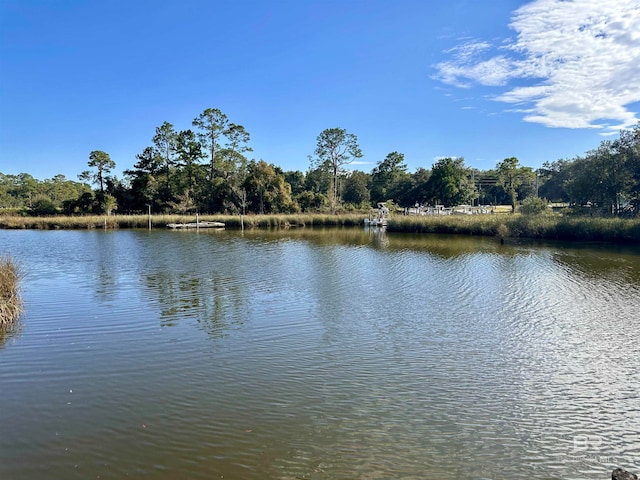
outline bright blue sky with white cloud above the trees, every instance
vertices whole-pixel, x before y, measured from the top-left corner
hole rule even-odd
[[[637,123],[640,0],[0,0],[0,172],[120,176],[205,108],[284,170],[332,127],[367,172],[537,168]]]

